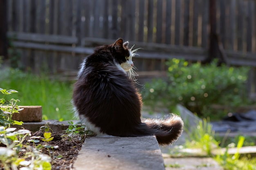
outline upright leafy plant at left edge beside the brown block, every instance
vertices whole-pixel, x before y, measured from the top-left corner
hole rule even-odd
[[[2,92],[3,97],[0,98],[0,126],[4,127],[11,127],[11,125],[22,125],[22,121],[16,121],[12,120],[11,117],[13,113],[19,113],[20,110],[23,110],[23,108],[19,108],[18,102],[20,100],[18,99],[11,99],[10,101],[4,99],[5,95],[11,95],[12,93],[18,93],[16,90],[6,90],[0,88],[0,92]]]

